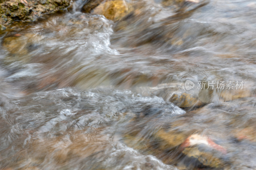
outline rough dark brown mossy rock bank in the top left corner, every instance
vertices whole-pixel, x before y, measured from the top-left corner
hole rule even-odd
[[[21,22],[36,21],[43,14],[51,14],[68,7],[70,0],[7,0],[0,2],[0,30]]]

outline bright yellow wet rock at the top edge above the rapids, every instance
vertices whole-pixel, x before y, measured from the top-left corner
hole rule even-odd
[[[125,16],[133,11],[131,4],[126,3],[124,0],[107,1],[98,5],[93,9],[92,14],[104,15],[106,18],[113,21],[123,19]]]

